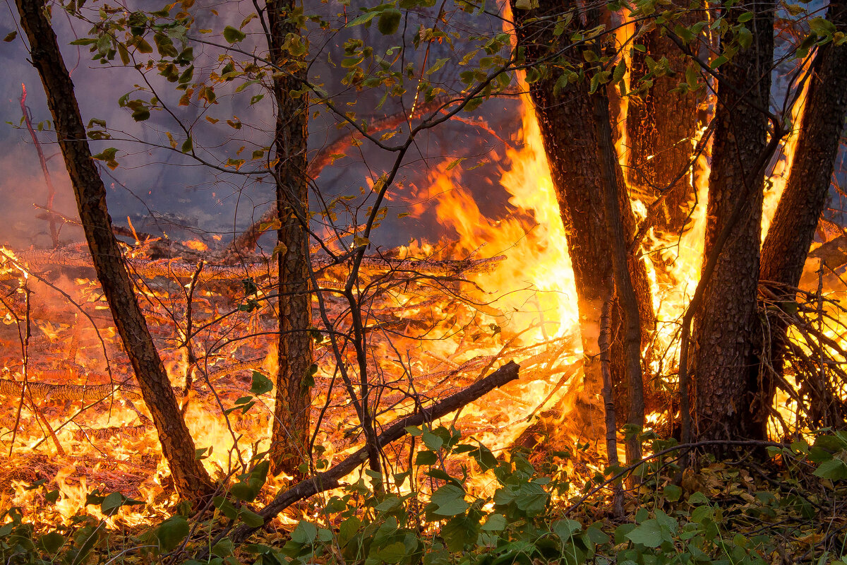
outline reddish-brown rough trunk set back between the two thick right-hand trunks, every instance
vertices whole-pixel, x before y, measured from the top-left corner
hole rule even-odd
[[[688,11],[677,22],[691,25],[700,15],[705,16],[701,12]],[[646,50],[634,50],[629,73],[632,90],[638,88],[639,81],[649,73],[645,61],[648,55],[656,61],[667,57],[671,69],[677,74],[657,77],[652,80],[652,86],[640,95],[628,98],[629,186],[648,202],[669,191],[662,202],[662,213],[656,219],[656,230],[678,234],[688,217],[694,186],[689,174],[684,174],[673,185],[671,183],[689,168],[699,101],[694,93],[673,91],[684,80],[685,67],[690,64],[673,41],[656,29],[648,31],[637,42]]]

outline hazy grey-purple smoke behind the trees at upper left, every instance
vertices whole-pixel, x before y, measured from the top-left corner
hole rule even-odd
[[[148,9],[160,8],[158,3],[144,1],[133,5]],[[14,7],[14,4],[7,3],[5,9],[10,7]],[[197,14],[195,30],[209,28],[217,31],[225,25],[238,26],[253,10],[252,3],[246,2],[218,3],[214,7],[219,16],[206,9],[193,9]],[[325,16],[333,17],[340,10],[340,5],[325,5],[321,9]],[[355,8],[347,9],[357,13]],[[425,16],[412,16],[409,30],[417,29],[420,22],[416,18],[423,21]],[[497,32],[497,26],[500,25],[496,20],[479,17],[465,17],[454,24],[457,28],[463,27],[468,32],[476,33]],[[119,108],[119,97],[133,91],[133,85],[141,83],[141,75],[136,69],[123,68],[119,64],[105,68],[91,61],[88,47],[68,45],[75,38],[86,36],[89,25],[71,19],[58,6],[54,8],[53,26],[63,46],[65,64],[72,71],[83,119],[86,122],[94,118],[105,119],[110,131],[124,132],[122,136],[135,140],[91,141],[91,149],[95,153],[106,147],[119,149],[120,167],[114,171],[101,167],[108,190],[109,210],[116,224],[125,225],[127,217],[130,217],[137,230],[154,235],[167,233],[174,238],[200,235],[207,240],[212,235],[219,235],[222,241],[228,241],[233,233],[243,230],[263,213],[274,195],[273,187],[267,179],[216,171],[180,152],[154,147],[169,145],[166,132],[173,132],[179,144],[184,136],[180,137],[179,127],[165,112],[153,112],[151,119],[136,123],[126,108]],[[400,41],[396,37],[381,37],[374,28],[359,26],[335,36],[321,35],[315,30],[310,32],[313,47],[323,47],[310,69],[310,80],[322,84],[334,96],[338,106],[346,108],[348,102],[356,103],[357,114],[366,119],[378,119],[401,112],[401,104],[389,100],[384,108],[376,109],[381,92],[356,92],[341,85],[340,78],[346,69],[330,66],[327,60],[331,58],[335,62],[340,61],[343,57],[343,43],[351,37],[366,38],[368,42],[376,42],[377,45],[380,42]],[[0,36],[6,36],[13,30],[19,30],[17,14],[7,12],[0,19]],[[240,47],[247,51],[255,48],[259,54],[266,53],[261,44],[263,36],[257,20],[248,24],[245,31],[248,37]],[[22,35],[22,30],[19,30],[18,38],[13,42],[0,43],[0,60],[3,61],[0,119],[14,126],[19,125],[21,119],[21,83],[26,85],[26,104],[34,124],[50,119],[41,81],[35,69],[26,61],[27,52]],[[411,33],[407,35],[411,36]],[[208,38],[222,42],[219,33],[209,34]],[[411,57],[411,45],[409,47]],[[224,51],[217,47],[195,45],[194,53],[197,56],[197,80],[200,73],[205,72],[208,76],[209,69],[219,66],[217,60]],[[234,56],[242,57],[237,54]],[[414,54],[417,58],[422,56],[423,53]],[[434,43],[429,53],[431,60],[452,56],[456,55],[451,53],[446,44]],[[455,87],[458,84],[456,75],[457,65],[448,64],[432,78],[444,80]],[[181,121],[192,125],[194,145],[204,158],[221,163],[226,158],[235,158],[240,147],[246,147],[243,152],[249,156],[253,149],[267,147],[270,143],[274,124],[270,97],[266,95],[262,101],[249,104],[252,96],[263,93],[261,86],[235,94],[235,86],[239,83],[234,81],[232,85],[219,87],[218,103],[210,108],[178,108],[176,100],[180,93],[174,91],[173,85],[154,73],[148,73],[147,77],[156,88],[157,95],[180,111]],[[411,106],[412,95],[413,92],[404,97],[405,108]],[[442,234],[431,214],[424,213],[422,216],[400,220],[396,218],[397,213],[407,212],[409,203],[415,202],[416,198],[433,196],[427,195],[426,187],[432,167],[446,158],[468,158],[468,163],[480,159],[491,161],[490,151],[498,150],[493,154],[494,157],[502,155],[504,141],[501,140],[508,142],[512,139],[519,126],[518,104],[513,100],[490,100],[478,112],[463,115],[485,119],[499,132],[500,139],[490,136],[479,127],[460,122],[442,125],[420,136],[399,177],[406,191],[402,196],[407,197],[407,201],[395,199],[390,203],[392,209],[379,232],[379,241],[396,245],[412,237],[438,239]],[[206,116],[221,122],[237,117],[244,127],[237,131],[225,126],[222,128],[220,123],[213,127],[206,121]],[[338,119],[325,111],[310,119],[310,154],[315,154],[344,133],[336,127],[337,123]],[[49,246],[47,221],[39,218],[44,213],[42,209],[36,208],[47,202],[47,186],[36,157],[36,149],[27,130],[16,129],[13,125],[4,124],[0,128],[0,187],[4,197],[4,206],[0,209],[0,222],[3,224],[0,240],[15,247]],[[57,191],[53,208],[58,213],[75,218],[75,202],[55,137],[48,131],[39,133],[38,137]],[[203,147],[208,149],[202,150]],[[315,180],[315,185],[328,198],[344,194],[357,195],[360,187],[368,186],[368,179],[373,180],[379,176],[392,162],[391,154],[370,147],[366,142],[363,147],[349,151],[347,158],[339,159],[324,169]],[[480,207],[492,215],[503,212],[507,198],[501,189],[492,190],[492,187],[499,188],[496,179],[499,177],[500,164],[490,162],[479,169],[473,169],[463,175],[461,183],[465,189],[474,192]],[[61,237],[63,241],[80,241],[81,230],[73,224],[64,224]]]

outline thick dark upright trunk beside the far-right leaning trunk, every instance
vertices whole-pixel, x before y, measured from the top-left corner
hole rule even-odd
[[[695,436],[699,440],[762,438],[754,413],[758,385],[748,368],[756,363],[756,289],[759,281],[761,202],[764,175],[757,163],[767,147],[767,108],[773,59],[773,3],[729,8],[728,23],[747,9],[752,44],[719,71],[717,126],[706,207],[704,256],[733,215],[741,214],[722,247],[695,317]],[[705,263],[705,262],[704,262]],[[767,416],[764,418],[767,421]]]

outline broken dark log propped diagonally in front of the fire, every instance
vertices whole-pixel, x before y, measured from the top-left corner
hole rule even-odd
[[[506,385],[508,382],[518,378],[519,368],[520,366],[518,363],[510,361],[484,379],[468,386],[468,388],[458,391],[456,394],[451,396],[447,396],[444,400],[435,402],[432,406],[426,407],[418,413],[413,413],[405,418],[396,420],[394,424],[391,424],[387,429],[385,429],[385,431],[377,436],[377,445],[381,449],[390,444],[392,441],[399,440],[401,437],[406,435],[407,427],[419,426],[428,422],[433,422],[434,420],[442,418],[451,412],[455,412],[459,408],[479,399],[479,397],[493,391],[495,388]],[[324,473],[318,473],[313,477],[303,479],[290,489],[281,492],[279,495],[274,497],[274,500],[271,501],[268,506],[258,512],[259,516],[263,518],[264,523],[268,523],[269,520],[276,517],[280,512],[285,510],[285,508],[290,507],[295,502],[302,501],[303,499],[308,498],[309,496],[314,496],[319,492],[337,488],[340,485],[341,479],[346,477],[348,474],[351,474],[353,470],[355,470],[359,465],[365,463],[367,460],[368,450],[365,447],[362,447]],[[235,529],[235,532],[231,535],[231,539],[236,544],[241,543],[253,532],[261,528],[262,526],[252,527],[243,524]],[[223,539],[227,534],[229,534],[229,531],[230,528],[224,529],[224,531],[221,532],[209,546],[214,546],[218,540]]]

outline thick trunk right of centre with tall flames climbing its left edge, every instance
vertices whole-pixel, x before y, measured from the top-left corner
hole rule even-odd
[[[556,16],[565,14],[567,9],[573,8],[575,4],[562,4],[555,0],[540,0],[539,4],[538,8],[527,10],[516,8],[515,2],[512,1],[518,47],[524,48],[527,63],[532,65],[541,59],[549,58],[551,53],[562,50],[573,58],[571,64],[578,65],[583,61],[582,51],[590,47],[581,46],[579,53],[574,53],[573,48],[568,50],[567,47],[573,47],[569,41],[571,34],[566,30],[560,35],[554,35],[554,26],[548,23],[551,18],[555,20]],[[574,20],[579,21],[579,18]],[[603,152],[595,130],[595,105],[592,97],[602,97],[601,103],[608,104],[608,101],[604,88],[597,89],[591,95],[587,81],[578,81],[556,89],[560,76],[562,71],[554,65],[549,65],[547,75],[531,84],[529,93],[539,120],[553,186],[556,188],[562,222],[565,224],[586,358],[586,387],[593,396],[598,395],[602,388],[601,364],[591,363],[591,360],[599,359],[597,338],[600,335],[603,295],[612,280],[613,269],[609,251],[612,241],[602,197]],[[611,128],[606,129],[606,135],[609,136],[608,140],[604,140],[606,145],[611,144]],[[617,165],[615,168],[618,169]],[[623,185],[623,174],[617,170],[611,181],[615,183],[614,190],[617,191],[621,213],[621,218],[615,221],[623,224],[623,233],[627,238],[631,238],[635,219],[626,187]],[[645,265],[639,258],[628,258],[628,271],[638,296],[640,330],[644,332],[640,337],[643,341],[645,333],[649,332],[655,320],[650,302],[650,287]],[[616,339],[612,342],[611,369],[614,385],[620,391],[627,388],[626,356],[623,353],[625,332],[622,329],[624,315],[619,304],[616,304],[614,310],[612,319],[616,327],[612,328],[612,335],[616,335]],[[636,388],[638,385],[640,383]],[[638,412],[639,405],[640,401],[636,398],[634,403],[629,403],[627,410],[630,413],[628,419],[634,424],[639,424],[639,417],[633,416],[633,412]]]

